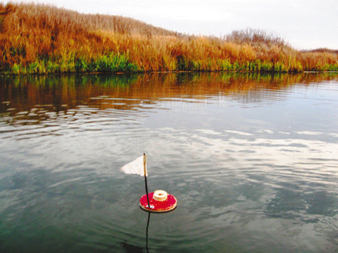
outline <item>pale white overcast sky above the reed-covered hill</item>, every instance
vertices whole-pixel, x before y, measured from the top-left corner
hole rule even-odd
[[[6,4],[9,1],[1,1]],[[11,1],[13,2],[13,1]],[[337,0],[28,0],[85,14],[120,15],[179,33],[226,36],[253,28],[295,49],[338,50]]]

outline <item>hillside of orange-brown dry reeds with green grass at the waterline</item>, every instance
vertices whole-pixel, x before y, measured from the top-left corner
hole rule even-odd
[[[43,4],[0,4],[0,18],[0,69],[11,74],[338,70],[337,53],[295,50],[259,30],[188,36]]]

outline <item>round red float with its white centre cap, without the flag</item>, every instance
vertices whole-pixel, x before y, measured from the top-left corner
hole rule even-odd
[[[169,212],[176,208],[176,198],[164,190],[155,190],[154,193],[149,193],[148,197],[150,207],[148,205],[147,194],[144,194],[139,199],[139,206],[148,212]]]

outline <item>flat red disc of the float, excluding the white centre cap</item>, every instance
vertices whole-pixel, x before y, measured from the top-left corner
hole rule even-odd
[[[148,212],[169,212],[171,210],[174,210],[177,205],[177,200],[173,195],[168,194],[168,198],[165,201],[157,201],[152,198],[154,193],[149,193],[149,204],[150,208],[148,206],[148,200],[147,200],[147,194],[144,194],[139,199],[139,206]]]

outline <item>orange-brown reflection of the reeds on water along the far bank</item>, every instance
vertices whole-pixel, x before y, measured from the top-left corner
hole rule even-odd
[[[31,112],[34,108],[38,108],[37,112],[64,113],[83,105],[97,109],[136,109],[151,107],[151,104],[163,99],[194,99],[198,102],[199,99],[216,96],[250,103],[264,99],[263,94],[267,90],[273,96],[294,85],[322,80],[337,80],[337,75],[181,72],[8,77],[0,80],[0,108],[3,116],[15,116],[17,112]]]

